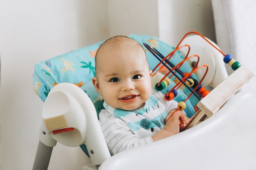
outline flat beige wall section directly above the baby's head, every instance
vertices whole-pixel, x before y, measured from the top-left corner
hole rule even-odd
[[[109,34],[158,37],[157,0],[108,0]]]

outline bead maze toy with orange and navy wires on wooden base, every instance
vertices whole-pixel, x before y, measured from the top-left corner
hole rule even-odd
[[[187,35],[190,34],[196,34],[200,36],[204,41],[209,43],[211,46],[213,46],[214,49],[219,51],[223,55],[223,61],[226,64],[229,64],[231,68],[234,70],[234,73],[232,73],[227,79],[225,79],[223,82],[221,82],[218,86],[216,86],[211,92],[204,88],[202,86],[202,81],[204,80],[204,77],[207,75],[208,72],[208,65],[201,65],[198,66],[200,56],[199,55],[189,55],[190,46],[189,44],[181,45],[184,38],[186,38]],[[184,110],[186,108],[186,101],[191,97],[191,95],[195,95],[200,101],[198,102],[197,106],[199,110],[197,113],[193,116],[191,121],[188,125],[184,128],[184,130],[191,128],[195,124],[198,123],[199,120],[204,120],[207,117],[211,117],[213,114],[215,114],[220,107],[227,102],[227,100],[234,95],[243,84],[247,83],[253,76],[254,73],[252,73],[249,69],[247,69],[245,66],[241,66],[239,62],[233,59],[233,57],[230,54],[223,53],[220,49],[218,49],[217,46],[215,46],[212,42],[210,42],[207,38],[205,38],[202,34],[192,31],[189,33],[186,33],[180,43],[177,45],[177,47],[171,51],[166,57],[164,57],[159,51],[157,51],[154,48],[151,48],[148,44],[144,43],[144,46],[152,53],[157,60],[159,60],[159,63],[157,66],[153,69],[153,76],[161,71],[163,67],[168,69],[168,72],[162,77],[162,79],[155,85],[155,88],[158,91],[162,91],[166,86],[170,84],[170,79],[172,76],[175,76],[179,81],[173,88],[171,88],[170,91],[165,93],[165,99],[171,100],[177,95],[177,89],[181,88],[182,84],[186,86],[186,88],[189,89],[191,92],[190,95],[184,100],[178,103],[177,110]],[[184,60],[178,63],[177,65],[172,64],[169,60],[173,56],[173,54],[182,49],[188,47],[188,52],[186,53]],[[192,71],[190,73],[182,73],[179,68],[182,66],[184,62],[187,60],[192,60]],[[160,66],[162,65],[162,66]],[[157,70],[157,67],[159,67],[159,70]],[[198,72],[202,68],[206,68],[205,71],[202,71],[202,75],[200,78],[200,81],[198,82],[196,79],[193,79],[192,74]],[[156,71],[157,70],[157,71]],[[154,72],[155,71],[155,72]],[[234,79],[236,79],[236,83],[234,83]],[[201,96],[196,93],[198,92]]]

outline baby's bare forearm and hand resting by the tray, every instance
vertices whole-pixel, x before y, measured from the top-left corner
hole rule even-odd
[[[175,109],[173,109],[168,113],[165,121],[164,129],[152,136],[153,141],[158,141],[179,133],[180,129],[184,128],[186,124],[189,123],[189,118],[186,117],[182,111],[178,110],[175,112]]]

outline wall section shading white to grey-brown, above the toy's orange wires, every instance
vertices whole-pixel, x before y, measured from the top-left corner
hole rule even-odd
[[[159,38],[176,46],[185,33],[215,39],[211,0],[158,0]]]

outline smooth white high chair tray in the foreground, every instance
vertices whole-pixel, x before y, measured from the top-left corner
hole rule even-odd
[[[193,128],[114,155],[99,170],[254,169],[255,96],[256,91],[239,92]]]

